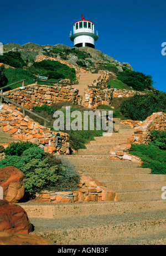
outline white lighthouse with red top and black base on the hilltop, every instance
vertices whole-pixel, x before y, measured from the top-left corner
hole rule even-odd
[[[82,20],[73,25],[73,31],[70,32],[70,40],[74,42],[74,47],[95,48],[95,41],[98,39],[98,32],[95,30],[94,22],[87,21],[81,15]]]

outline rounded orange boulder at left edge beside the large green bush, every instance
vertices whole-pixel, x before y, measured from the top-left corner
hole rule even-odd
[[[24,196],[24,173],[14,166],[0,168],[0,186],[3,188],[3,198],[17,203]]]

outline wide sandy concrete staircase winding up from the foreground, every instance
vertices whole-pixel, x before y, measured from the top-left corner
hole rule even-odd
[[[118,193],[118,202],[21,203],[34,225],[33,234],[53,244],[113,245],[165,244],[164,175],[152,175],[131,161],[109,159],[111,147],[127,142],[133,134],[119,127],[110,137],[96,137],[77,155],[61,156],[63,164],[76,168]]]

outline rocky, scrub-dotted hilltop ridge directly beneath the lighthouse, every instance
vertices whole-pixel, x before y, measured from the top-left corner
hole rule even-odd
[[[9,43],[4,44],[3,46],[4,53],[7,53],[9,51],[15,52],[18,51],[21,54],[21,57],[27,61],[30,62],[32,58],[35,58],[39,54],[46,54],[50,55],[52,57],[62,57],[62,59],[68,60],[69,63],[77,65],[77,61],[80,60],[79,56],[72,53],[72,49],[67,45],[64,44],[56,44],[56,45],[38,45],[35,43],[27,43],[24,45],[15,44],[15,43]],[[117,66],[117,68],[121,71],[123,71],[123,67],[127,67],[130,70],[132,69],[132,66],[129,63],[120,63],[117,60],[113,59],[112,57],[102,53],[100,50],[93,49],[90,47],[81,47],[76,48],[79,49],[83,53],[87,53],[86,58],[82,58],[83,64],[86,66],[86,68],[94,68],[94,70],[97,68],[98,65],[102,63],[110,63],[112,65]],[[61,51],[63,50],[63,51]],[[63,52],[63,53],[62,53]],[[88,58],[87,58],[88,57]]]

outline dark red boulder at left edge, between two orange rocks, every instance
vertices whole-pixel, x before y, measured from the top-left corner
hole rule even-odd
[[[0,200],[0,232],[28,234],[32,231],[32,224],[22,207]]]

